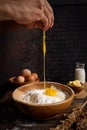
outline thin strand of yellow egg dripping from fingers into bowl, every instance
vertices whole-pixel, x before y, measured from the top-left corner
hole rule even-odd
[[[46,88],[46,34],[45,31],[43,31],[43,58],[44,58],[44,64],[43,64],[43,69],[44,69],[44,89]]]

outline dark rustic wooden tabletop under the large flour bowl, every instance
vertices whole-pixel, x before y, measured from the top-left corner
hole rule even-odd
[[[12,91],[7,91],[0,99],[0,130],[49,130],[49,128],[56,127],[63,119],[64,113],[47,121],[30,119],[29,116],[25,116],[16,108],[11,97]],[[66,112],[70,112],[73,107],[83,104],[87,100],[86,98],[75,98]],[[70,130],[75,130],[75,126],[73,125]],[[87,127],[82,130],[87,130]]]

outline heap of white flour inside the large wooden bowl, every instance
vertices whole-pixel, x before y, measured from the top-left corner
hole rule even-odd
[[[22,97],[24,102],[35,104],[56,103],[64,101],[65,98],[66,95],[61,90],[57,90],[56,96],[48,96],[45,94],[45,89],[31,90]]]

